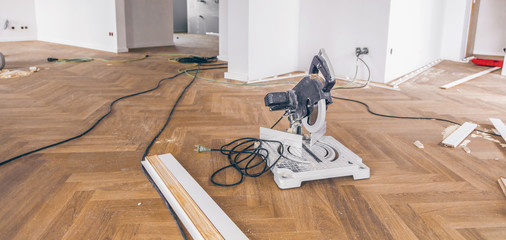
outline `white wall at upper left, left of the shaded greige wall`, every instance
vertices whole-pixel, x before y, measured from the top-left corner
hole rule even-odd
[[[115,5],[115,0],[35,0],[38,39],[118,52]]]

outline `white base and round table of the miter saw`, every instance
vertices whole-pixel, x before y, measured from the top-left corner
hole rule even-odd
[[[271,134],[266,133],[266,129],[262,129],[260,138],[279,140],[273,139],[271,131],[276,130],[269,130],[267,131]],[[362,159],[333,137],[323,136],[320,138],[310,148],[312,153],[305,149],[296,148],[292,144],[283,146],[284,157],[271,169],[274,181],[281,189],[300,187],[302,182],[312,180],[345,176],[353,176],[354,180],[359,180],[370,177],[370,169],[362,163]],[[270,165],[280,155],[279,144],[267,143],[265,147],[269,151]]]

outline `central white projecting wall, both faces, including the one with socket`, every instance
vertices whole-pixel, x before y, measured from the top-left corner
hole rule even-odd
[[[383,82],[389,2],[229,1],[228,38],[220,38],[220,42],[228,42],[229,71],[225,77],[255,80],[307,71],[323,47],[336,75],[351,78],[355,47],[368,47],[371,53],[364,60],[372,69],[372,80]],[[364,66],[358,78],[367,78]]]

